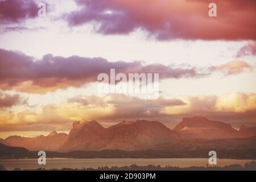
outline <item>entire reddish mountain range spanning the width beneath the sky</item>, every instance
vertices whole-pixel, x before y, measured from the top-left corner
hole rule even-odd
[[[24,147],[30,151],[139,151],[187,146],[190,140],[207,141],[218,139],[249,138],[256,136],[256,127],[241,126],[240,130],[231,125],[210,121],[203,117],[183,118],[174,128],[169,129],[159,121],[122,121],[108,128],[97,121],[74,122],[69,134],[52,131],[47,136],[34,138],[11,136],[0,139],[0,143],[12,147]],[[193,142],[192,142],[193,143]],[[200,144],[200,142],[197,144]]]

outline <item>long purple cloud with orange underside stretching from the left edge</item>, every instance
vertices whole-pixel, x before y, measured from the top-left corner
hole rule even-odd
[[[171,68],[162,64],[143,65],[141,61],[110,62],[101,57],[61,57],[45,55],[42,59],[16,51],[0,49],[0,88],[15,89],[23,85],[23,92],[32,88],[56,90],[68,86],[81,86],[97,81],[100,73],[159,73],[159,78],[181,78],[203,76],[196,68]]]

